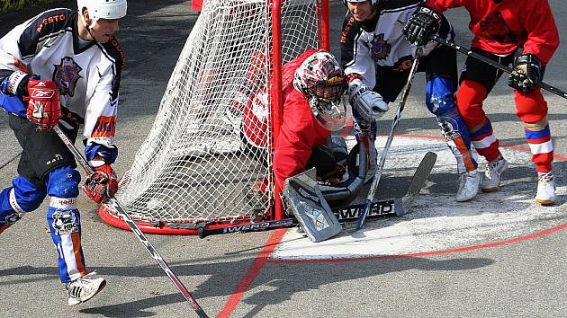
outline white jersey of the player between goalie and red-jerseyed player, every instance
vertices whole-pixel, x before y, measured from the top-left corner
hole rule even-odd
[[[361,75],[363,83],[374,88],[377,67],[409,70],[417,47],[405,40],[403,27],[419,4],[419,0],[387,1],[378,7],[373,19],[365,22],[356,22],[353,15],[347,13],[340,38],[341,64],[345,73]],[[455,32],[445,17],[439,34],[453,40]],[[436,42],[429,42],[424,55],[437,46]]]

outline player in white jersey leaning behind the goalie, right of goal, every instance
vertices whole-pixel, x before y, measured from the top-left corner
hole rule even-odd
[[[369,145],[375,166],[376,137],[374,105],[393,102],[401,93],[417,47],[405,40],[403,27],[419,8],[419,0],[344,0],[348,13],[340,37],[341,63],[345,67],[348,93],[358,126],[357,137]],[[455,36],[442,17],[439,35]],[[426,105],[436,115],[446,143],[452,150],[460,173],[457,201],[473,199],[481,175],[471,155],[471,139],[455,107],[457,86],[456,53],[428,42],[423,48],[418,71],[426,73]],[[374,167],[370,167],[370,172]],[[369,173],[373,174],[373,173]]]

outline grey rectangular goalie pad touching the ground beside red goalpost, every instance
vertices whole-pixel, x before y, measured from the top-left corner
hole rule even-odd
[[[288,178],[284,185],[284,196],[309,239],[321,242],[340,233],[342,226],[314,178],[315,169]]]

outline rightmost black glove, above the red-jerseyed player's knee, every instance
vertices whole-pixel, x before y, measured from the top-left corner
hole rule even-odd
[[[535,55],[524,54],[514,58],[513,71],[508,85],[527,93],[539,83],[542,77],[542,65]]]

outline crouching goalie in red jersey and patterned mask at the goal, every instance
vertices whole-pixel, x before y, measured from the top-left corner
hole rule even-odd
[[[247,76],[251,82],[257,72],[253,67]],[[310,239],[317,242],[341,230],[328,202],[348,202],[360,190],[366,172],[364,147],[359,152],[356,146],[349,160],[345,140],[331,136],[344,127],[347,118],[342,98],[346,80],[335,57],[310,49],[286,63],[282,74],[284,114],[275,140],[275,187],[284,190],[288,213],[293,213]],[[244,148],[253,152],[265,153],[267,100],[266,90],[260,88],[236,103],[235,108],[242,113],[240,136],[248,145]],[[257,157],[266,159],[266,155]],[[359,165],[364,168],[359,169]],[[266,187],[267,178],[252,186],[248,199],[253,207],[257,202],[266,202],[266,198],[257,198],[267,195]],[[277,190],[275,193],[279,193]]]

